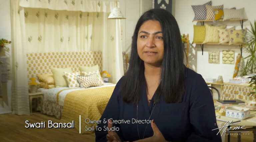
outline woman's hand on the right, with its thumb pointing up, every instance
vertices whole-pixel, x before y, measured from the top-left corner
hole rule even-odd
[[[151,121],[151,127],[152,127],[153,132],[154,132],[152,137],[148,137],[148,138],[145,138],[145,139],[137,140],[137,141],[134,141],[134,142],[167,142],[164,139],[164,136],[161,133],[161,131],[157,128],[154,119]]]

